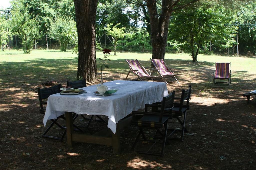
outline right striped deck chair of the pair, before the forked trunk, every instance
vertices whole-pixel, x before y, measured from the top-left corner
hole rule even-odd
[[[166,63],[164,62],[163,59],[151,59],[151,62],[153,63],[155,69],[157,70],[157,72],[160,74],[161,78],[163,79],[163,81],[167,83],[167,81],[165,80],[165,78],[168,77],[174,77],[174,79],[178,82],[178,80],[176,79],[176,75],[178,74],[174,74],[173,69],[170,69]]]

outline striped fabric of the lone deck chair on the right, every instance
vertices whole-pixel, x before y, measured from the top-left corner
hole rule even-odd
[[[230,63],[216,63],[214,79],[229,78]]]

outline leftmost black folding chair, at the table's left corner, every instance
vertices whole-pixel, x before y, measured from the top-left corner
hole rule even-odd
[[[38,92],[38,98],[39,98],[39,103],[40,103],[40,109],[39,109],[39,113],[41,114],[45,114],[45,109],[43,107],[43,105],[46,105],[47,104],[47,99],[50,95],[53,95],[53,94],[56,94],[56,93],[60,93],[60,88],[61,88],[61,84],[57,85],[57,86],[52,86],[52,87],[48,87],[48,88],[44,88],[44,89],[40,89],[40,87],[37,88],[37,92]],[[51,119],[52,123],[50,124],[50,126],[46,129],[46,131],[44,132],[44,134],[42,135],[42,137],[46,137],[46,138],[52,138],[52,139],[58,139],[60,141],[63,140],[65,134],[66,134],[66,127],[60,125],[57,121],[58,119],[63,119],[66,121],[65,119],[65,116],[64,115],[60,115],[59,117],[57,117],[56,119]],[[61,129],[65,129],[65,131],[63,132],[62,136],[59,138],[59,137],[56,137],[56,136],[49,136],[49,135],[46,135],[47,132],[52,128],[53,125],[57,125],[59,126]],[[74,127],[76,127],[77,129],[74,129],[74,130],[79,130],[81,132],[83,132],[82,129],[80,129],[79,127],[77,127],[76,125],[74,125]]]

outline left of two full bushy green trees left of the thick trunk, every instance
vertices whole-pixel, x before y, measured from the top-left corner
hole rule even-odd
[[[34,40],[39,36],[39,26],[36,19],[30,19],[27,11],[12,12],[13,32],[22,40],[24,54],[30,53]]]

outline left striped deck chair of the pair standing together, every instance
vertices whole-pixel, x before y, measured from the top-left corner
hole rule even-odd
[[[146,71],[146,69],[141,65],[141,63],[136,59],[136,60],[129,60],[129,59],[125,59],[125,61],[128,63],[130,70],[125,78],[125,80],[127,80],[127,77],[129,76],[129,74],[131,72],[133,72],[136,76],[138,76],[139,80],[143,80],[143,79],[151,79],[153,80],[153,76],[151,76],[151,73],[148,74],[148,72]],[[136,80],[133,79],[133,80]],[[154,80],[153,80],[154,81]]]

